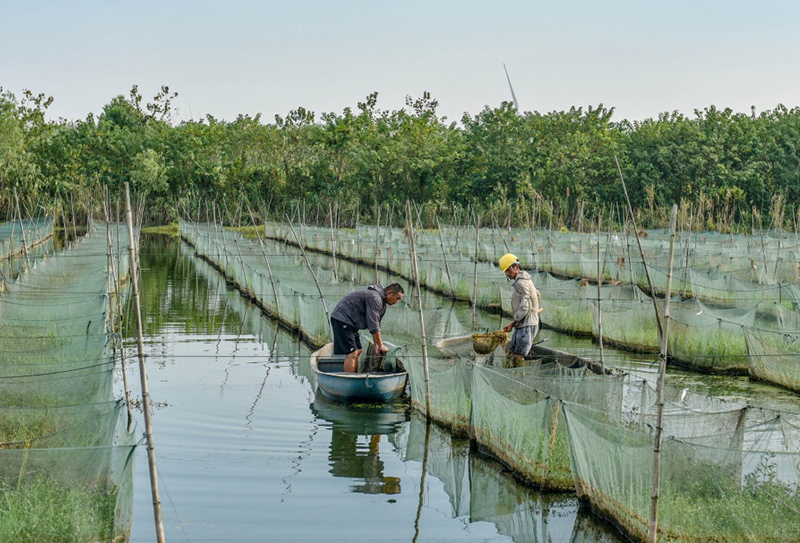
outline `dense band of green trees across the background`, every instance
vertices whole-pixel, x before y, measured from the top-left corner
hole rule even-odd
[[[176,97],[164,86],[146,101],[134,86],[97,116],[49,120],[52,97],[0,88],[0,214],[11,216],[15,187],[27,209],[98,213],[126,181],[162,224],[222,201],[273,218],[302,202],[317,217],[335,207],[340,224],[374,222],[412,200],[431,216],[469,209],[578,228],[622,209],[621,179],[641,226],[663,226],[677,203],[702,228],[794,229],[800,203],[797,107],[630,122],[602,104],[520,113],[503,102],[454,122],[429,93],[391,111],[372,93],[341,113],[175,123]]]

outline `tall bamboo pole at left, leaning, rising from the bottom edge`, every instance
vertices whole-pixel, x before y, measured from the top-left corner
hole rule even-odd
[[[164,523],[161,518],[161,498],[158,494],[158,470],[156,468],[155,445],[153,443],[153,421],[151,418],[150,392],[147,387],[147,369],[144,355],[144,333],[142,331],[142,305],[139,298],[139,261],[136,256],[136,245],[133,239],[133,214],[131,213],[131,194],[128,182],[125,182],[125,209],[128,217],[128,243],[131,256],[131,284],[133,286],[133,303],[136,309],[136,338],[139,354],[139,377],[142,382],[142,409],[144,410],[144,427],[147,436],[147,463],[150,467],[150,490],[153,495],[153,516],[155,518],[156,540],[164,543]]]

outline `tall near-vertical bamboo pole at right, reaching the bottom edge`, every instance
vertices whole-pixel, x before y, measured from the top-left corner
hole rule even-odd
[[[648,541],[656,543],[658,538],[658,499],[661,484],[661,434],[664,421],[664,387],[667,373],[667,346],[669,343],[669,298],[672,288],[672,257],[675,253],[675,222],[678,217],[678,206],[672,206],[672,220],[669,236],[669,269],[667,271],[667,291],[664,298],[664,331],[661,334],[658,364],[658,413],[656,414],[656,436],[653,446],[653,491],[650,499],[650,531]]]

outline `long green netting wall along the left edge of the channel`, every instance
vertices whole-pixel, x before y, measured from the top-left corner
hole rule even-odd
[[[0,541],[129,536],[136,443],[111,401],[108,260],[90,231],[0,293]]]

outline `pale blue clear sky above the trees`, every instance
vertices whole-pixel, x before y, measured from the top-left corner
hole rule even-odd
[[[649,0],[26,1],[0,4],[0,86],[98,113],[137,83],[178,120],[298,106],[340,113],[430,91],[459,120],[511,95],[525,111],[616,108],[616,120],[800,105],[800,2]]]

